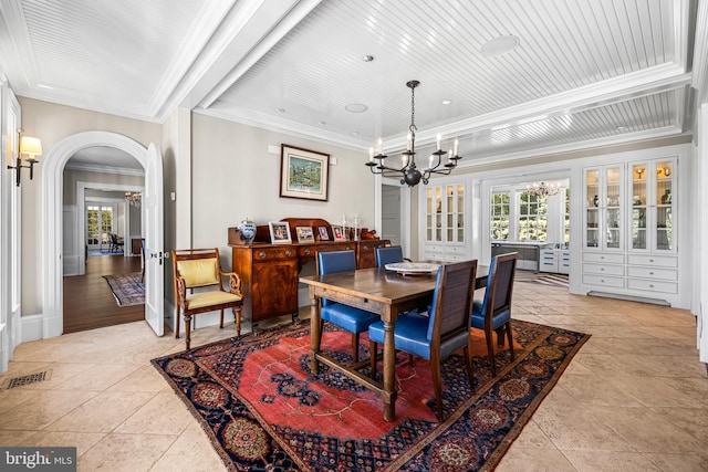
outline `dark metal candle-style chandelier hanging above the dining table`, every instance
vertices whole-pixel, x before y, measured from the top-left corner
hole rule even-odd
[[[455,145],[452,149],[449,151],[449,156],[447,161],[442,164],[442,156],[447,155],[448,151],[440,149],[440,135],[437,136],[437,150],[430,155],[428,159],[428,167],[425,169],[418,169],[416,166],[416,132],[418,128],[416,127],[415,117],[416,117],[416,97],[415,91],[416,87],[420,85],[418,81],[409,81],[406,83],[406,86],[410,88],[410,126],[408,127],[408,145],[405,151],[400,154],[402,157],[402,167],[391,167],[384,165],[384,159],[386,159],[386,155],[383,154],[382,149],[382,140],[378,139],[378,146],[376,154],[374,156],[374,148],[372,147],[368,151],[368,169],[372,174],[382,175],[383,177],[402,177],[400,185],[407,183],[408,187],[417,186],[420,180],[423,183],[427,185],[428,179],[433,174],[439,174],[447,176],[452,169],[457,167],[457,161],[461,159],[461,157],[457,154],[458,140],[455,139]]]

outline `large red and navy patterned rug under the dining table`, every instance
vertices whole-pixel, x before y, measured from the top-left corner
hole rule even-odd
[[[492,470],[590,337],[520,321],[513,332],[517,358],[510,363],[507,349],[499,353],[496,378],[483,333],[475,334],[475,394],[462,357],[446,359],[444,422],[436,419],[424,359],[410,367],[407,355],[397,358],[393,422],[383,420],[378,397],[347,377],[326,366],[312,375],[309,323],[214,343],[153,365],[232,471]],[[351,360],[348,333],[327,329],[322,346]]]

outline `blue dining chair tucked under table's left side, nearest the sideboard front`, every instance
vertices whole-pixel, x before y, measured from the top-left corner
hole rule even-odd
[[[352,250],[317,252],[316,264],[320,275],[354,271],[356,270],[356,256]],[[322,298],[321,303],[322,322],[332,323],[352,333],[352,360],[356,363],[358,360],[360,334],[366,332],[372,323],[377,322],[378,315],[326,298]],[[322,331],[320,329],[320,333]]]

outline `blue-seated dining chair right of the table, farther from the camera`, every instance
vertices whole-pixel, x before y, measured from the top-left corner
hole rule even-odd
[[[492,258],[489,275],[487,275],[485,298],[476,300],[472,304],[471,325],[472,328],[485,331],[492,377],[497,376],[494,346],[492,345],[493,332],[497,332],[497,344],[500,346],[503,346],[503,335],[507,334],[511,360],[514,359],[511,336],[511,295],[518,256],[517,252],[510,252]]]

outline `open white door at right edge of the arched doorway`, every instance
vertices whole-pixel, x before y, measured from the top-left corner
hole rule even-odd
[[[165,271],[163,239],[163,157],[154,143],[147,147],[145,193],[145,321],[156,335],[165,334]]]

